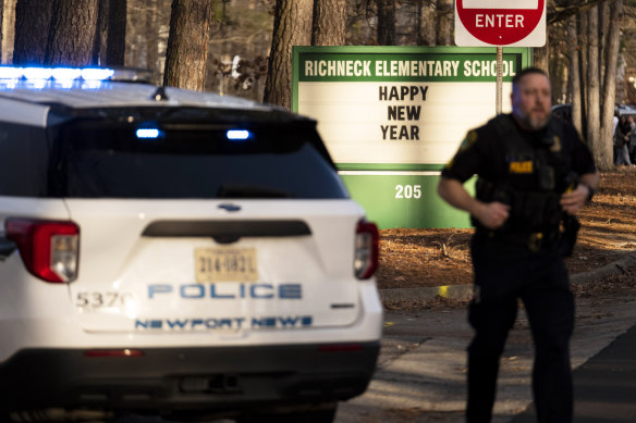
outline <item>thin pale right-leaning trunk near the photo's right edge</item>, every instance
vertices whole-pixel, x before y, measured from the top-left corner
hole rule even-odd
[[[610,170],[613,164],[613,128],[614,100],[616,96],[616,69],[619,62],[619,45],[621,40],[621,23],[623,21],[623,0],[615,0],[610,7],[610,25],[607,35],[606,74],[603,77],[603,109],[601,114],[600,140],[602,142],[602,170]],[[599,163],[599,162],[597,162]]]

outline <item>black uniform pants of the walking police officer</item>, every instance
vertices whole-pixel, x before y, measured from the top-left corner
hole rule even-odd
[[[466,421],[491,420],[499,359],[521,298],[535,345],[533,393],[537,420],[571,423],[570,338],[574,329],[574,298],[562,253],[556,246],[530,252],[522,246],[476,235],[472,256],[475,296],[468,319],[475,336],[468,346]]]

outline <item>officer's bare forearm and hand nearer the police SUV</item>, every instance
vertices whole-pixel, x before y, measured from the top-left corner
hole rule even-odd
[[[457,179],[442,176],[438,185],[438,194],[449,204],[467,211],[490,229],[497,229],[503,225],[509,216],[510,206],[497,201],[481,202],[473,198]]]

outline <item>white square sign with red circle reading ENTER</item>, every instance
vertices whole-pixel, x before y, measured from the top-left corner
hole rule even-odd
[[[455,43],[543,46],[545,10],[546,0],[455,0]]]

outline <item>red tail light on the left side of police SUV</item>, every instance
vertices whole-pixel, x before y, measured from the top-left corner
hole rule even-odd
[[[26,269],[47,282],[72,282],[77,277],[80,227],[73,222],[8,219],[7,237],[20,250]]]

